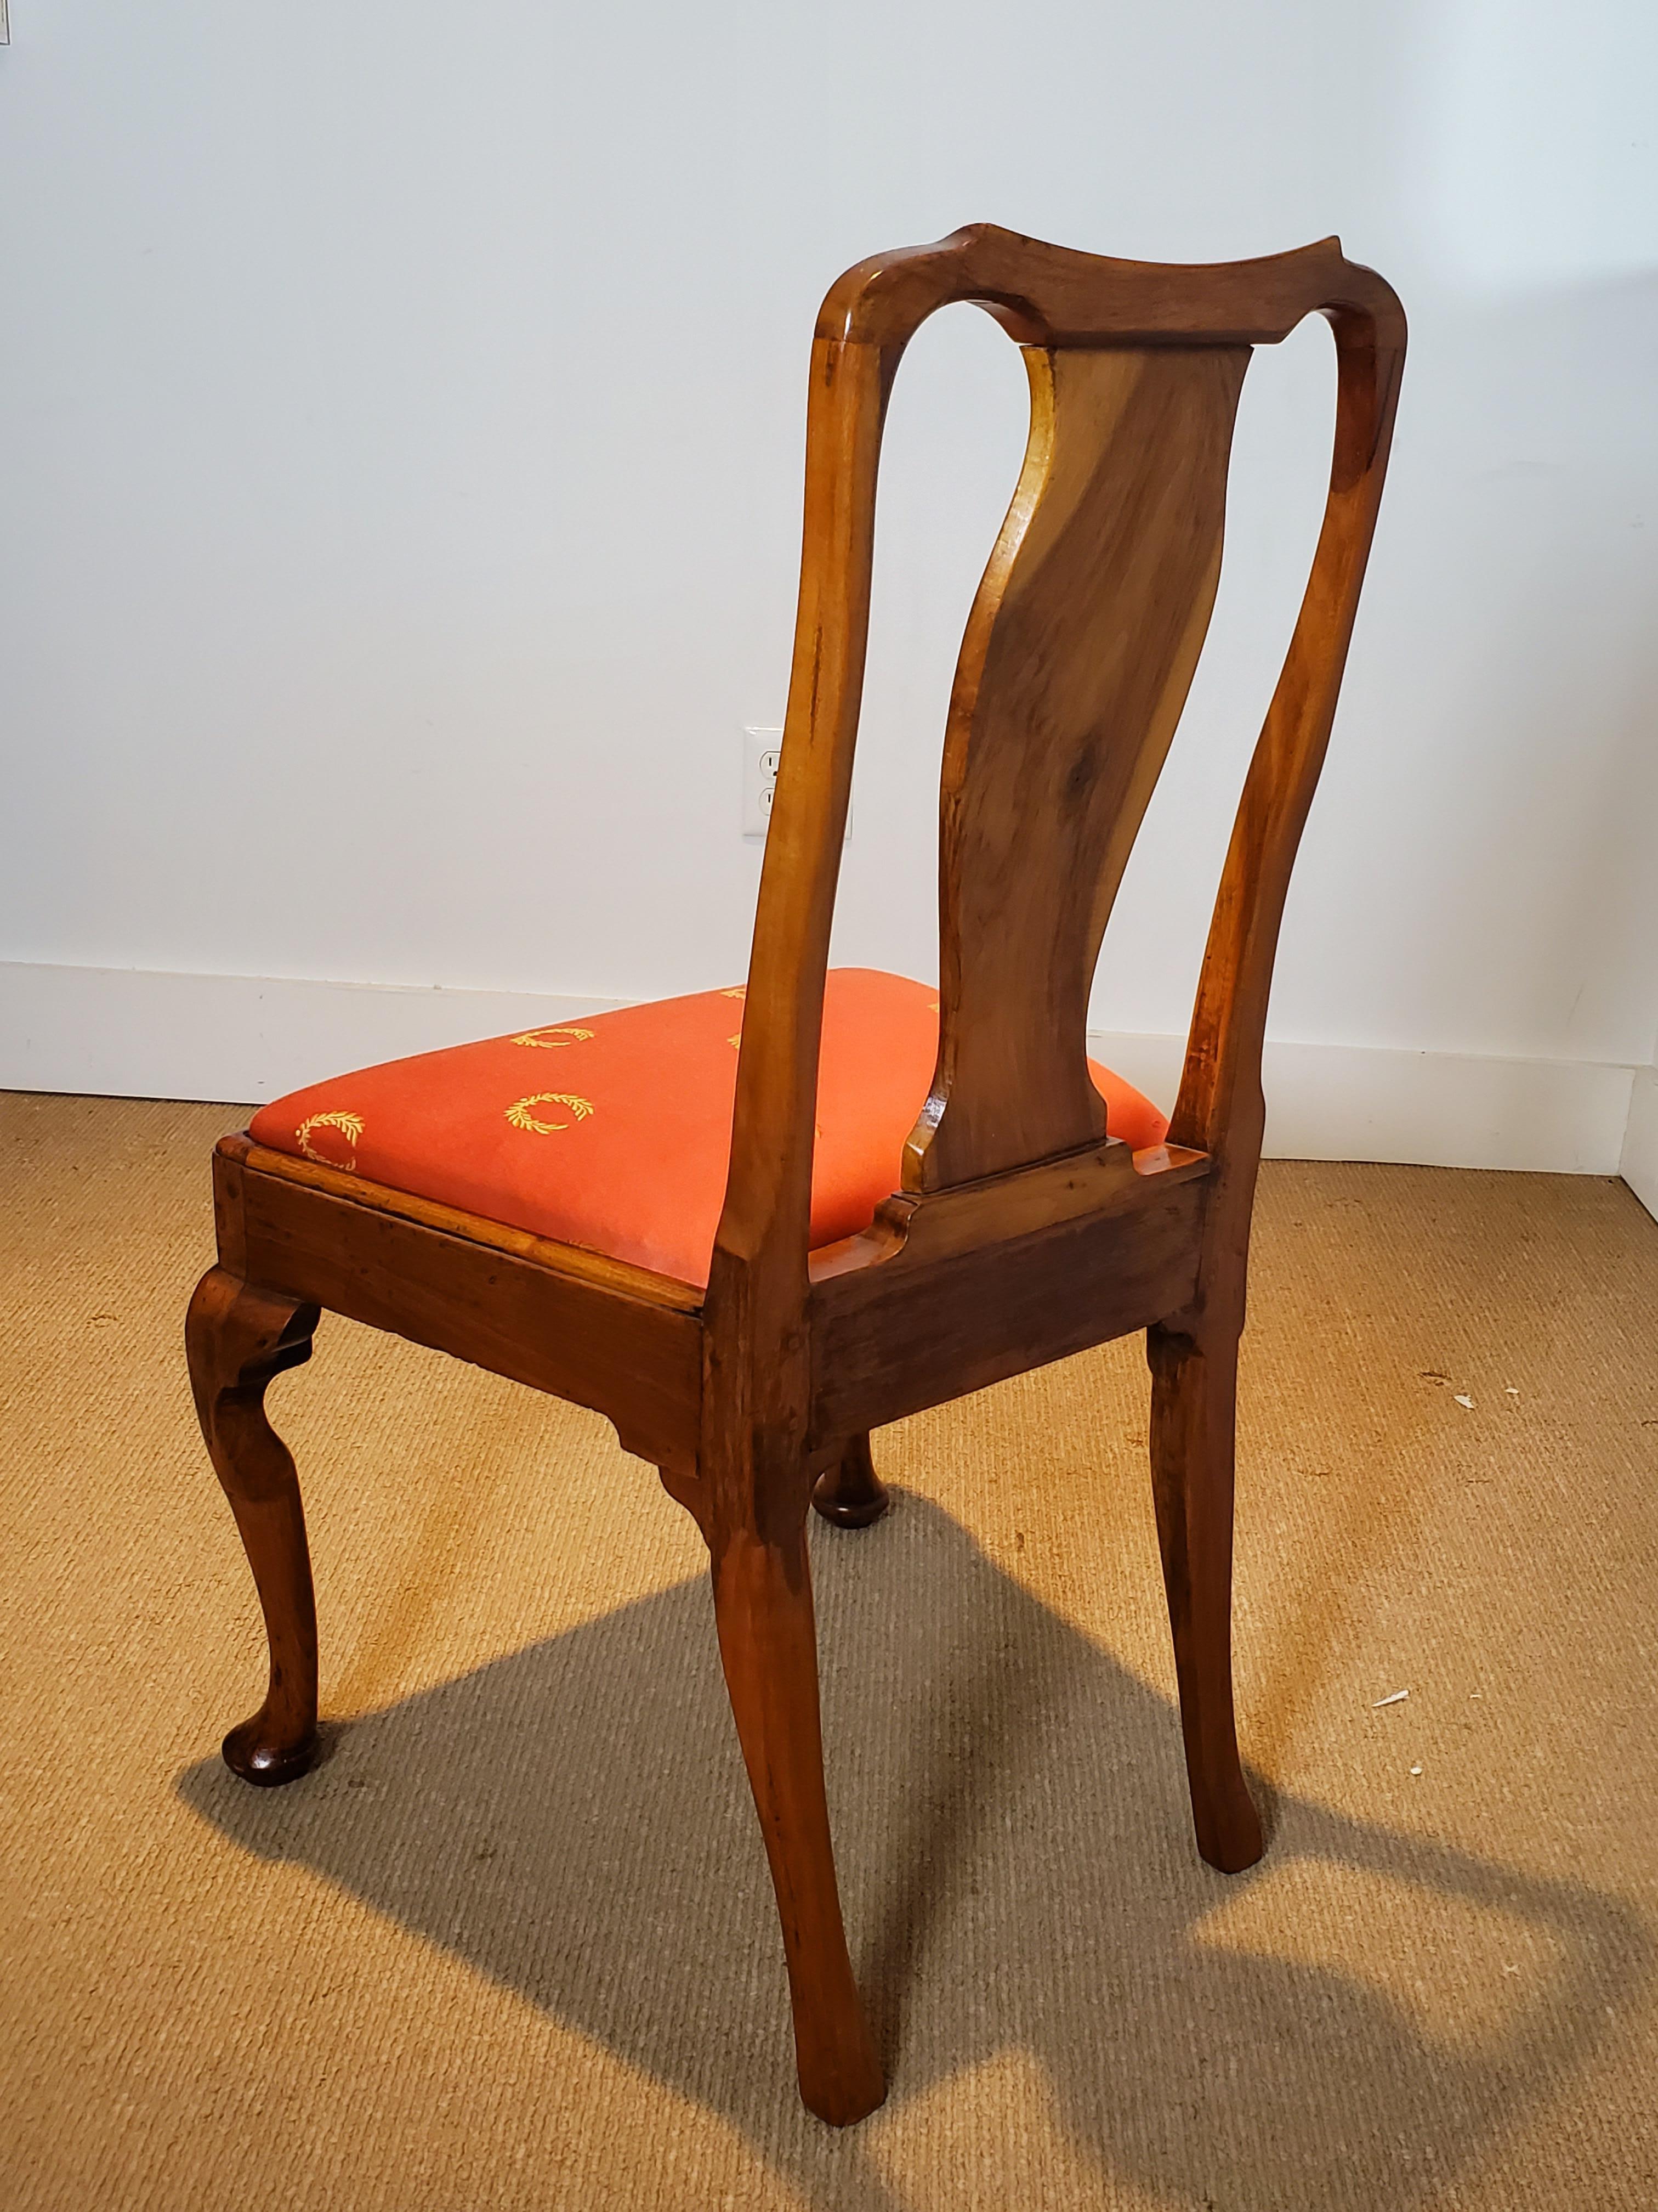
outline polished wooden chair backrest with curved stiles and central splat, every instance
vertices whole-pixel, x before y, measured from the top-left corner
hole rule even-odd
[[[851,787],[882,418],[904,345],[953,301],[1024,347],[1032,427],[962,646],[944,750],[940,1057],[904,1186],[1099,1144],[1088,989],[1214,604],[1231,425],[1253,345],[1322,312],[1337,347],[1331,491],[1249,770],[1172,1139],[1216,1155],[1247,1237],[1260,1040],[1289,869],[1329,739],[1375,524],[1404,312],[1337,239],[1158,265],[995,226],[880,254],[825,299],[811,356],[800,608],[710,1279],[710,1356],[741,1307],[774,1409],[807,1290],[822,978]],[[1247,1164],[1247,1177],[1229,1172]],[[1218,1212],[1236,1212],[1222,1206]],[[727,1385],[730,1385],[727,1376]],[[758,1416],[760,1407],[752,1411]]]

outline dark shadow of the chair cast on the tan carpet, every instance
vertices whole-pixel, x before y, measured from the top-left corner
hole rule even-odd
[[[886,2115],[1028,2053],[1101,2181],[1194,2208],[1388,2212],[1556,2088],[1647,1973],[1647,1938],[1614,1900],[1293,1796],[1269,1807],[1258,1869],[1214,1874],[1192,1847],[1172,1703],[913,1493],[860,1535],[816,1531],[814,1575]],[[179,1790],[248,1851],[316,1869],[701,2099],[809,2203],[895,2203],[869,2141],[889,2121],[836,2135],[796,2101],[703,1577],[354,1721],[283,1792],[217,1759]],[[1346,1927],[1344,1955],[1364,1955],[1366,1898],[1391,1893],[1395,1936],[1402,1893],[1421,1905],[1421,1953],[1397,1975],[1488,1984],[1472,2031],[1318,1944],[1273,1955],[1247,1929],[1200,1929],[1307,1860],[1362,1885],[1304,1905]]]

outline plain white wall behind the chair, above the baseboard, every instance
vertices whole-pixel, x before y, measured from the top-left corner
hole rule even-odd
[[[736,732],[780,717],[829,279],[979,217],[1154,259],[1340,230],[1413,358],[1273,1035],[1402,1082],[1581,1066],[1596,1133],[1523,1157],[1616,1166],[1607,1071],[1658,1031],[1649,0],[11,15],[0,958],[35,973],[7,1079],[237,1088],[234,1015],[157,1013],[93,1071],[86,978],[53,1000],[40,969],[584,1002],[738,975]],[[1329,387],[1318,325],[1251,369],[1103,1031],[1185,1026]],[[933,958],[942,703],[1021,414],[984,316],[915,343],[842,958]]]

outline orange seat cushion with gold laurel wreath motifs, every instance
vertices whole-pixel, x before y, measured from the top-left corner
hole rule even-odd
[[[252,1135],[705,1285],[725,1199],[743,991],[699,991],[581,1022],[387,1060],[263,1106]],[[937,991],[831,969],[822,998],[811,1243],[869,1228],[898,1190],[933,1084]],[[1090,1060],[1112,1137],[1161,1144],[1167,1119]]]

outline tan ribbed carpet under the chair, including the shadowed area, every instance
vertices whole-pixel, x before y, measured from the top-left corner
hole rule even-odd
[[[276,1383],[334,1756],[179,1321],[234,1108],[4,1102],[11,2212],[1658,2205],[1658,1223],[1276,1166],[1242,1387],[1265,1863],[1192,1849],[1134,1343],[889,1429],[818,1531],[891,2097],[796,2104],[701,1548],[592,1416],[325,1321]],[[1395,1690],[1408,1699],[1377,1703]]]

